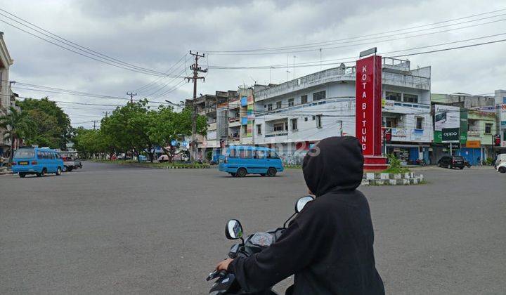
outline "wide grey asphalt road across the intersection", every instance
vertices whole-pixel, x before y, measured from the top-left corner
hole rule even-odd
[[[504,294],[506,175],[419,173],[429,183],[360,188],[387,293]],[[85,162],[62,176],[0,176],[0,294],[207,294],[232,244],[228,218],[246,233],[275,228],[304,192],[300,170],[231,178]]]

